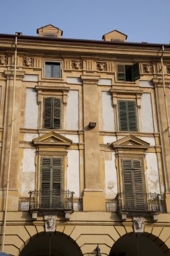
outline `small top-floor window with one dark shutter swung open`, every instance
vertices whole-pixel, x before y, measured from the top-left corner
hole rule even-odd
[[[118,81],[134,82],[140,79],[139,63],[134,65],[118,65],[117,72]]]

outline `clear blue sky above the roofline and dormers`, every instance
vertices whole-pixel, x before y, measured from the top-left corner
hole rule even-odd
[[[101,40],[119,30],[128,42],[170,42],[170,0],[1,0],[0,34],[52,24],[64,38]]]

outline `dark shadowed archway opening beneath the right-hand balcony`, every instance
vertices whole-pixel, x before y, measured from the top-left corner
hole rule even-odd
[[[109,256],[165,256],[154,240],[148,238],[146,233],[125,234],[114,243]]]

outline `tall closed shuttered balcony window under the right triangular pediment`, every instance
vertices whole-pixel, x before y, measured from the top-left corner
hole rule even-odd
[[[124,206],[127,210],[144,210],[144,184],[141,160],[122,160]]]

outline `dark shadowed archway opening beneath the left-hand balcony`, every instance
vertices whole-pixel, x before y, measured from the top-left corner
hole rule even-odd
[[[33,236],[28,245],[19,254],[19,256],[67,255],[82,256],[82,253],[73,239],[59,232],[40,233],[38,236]]]

